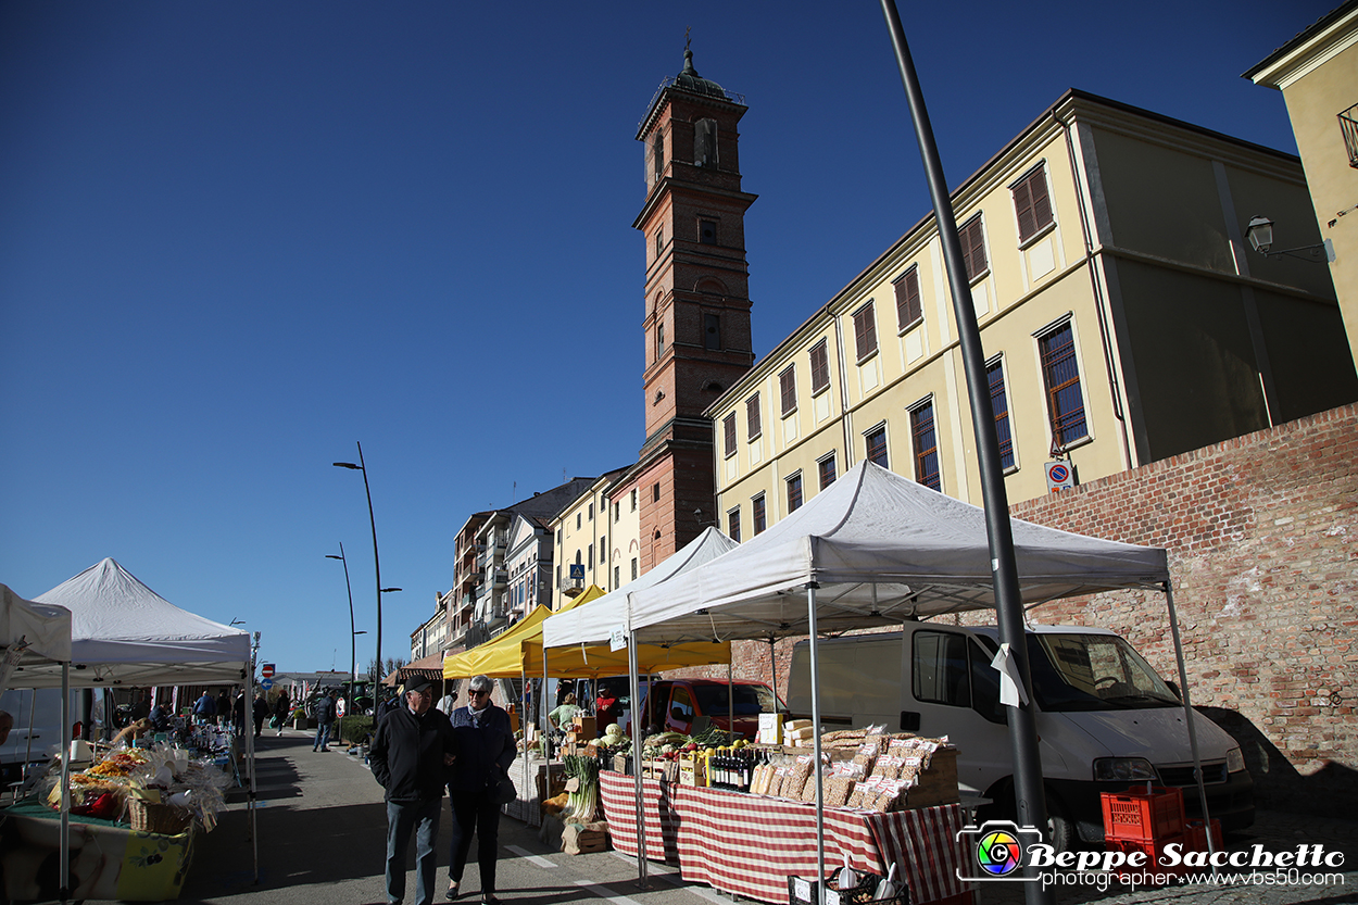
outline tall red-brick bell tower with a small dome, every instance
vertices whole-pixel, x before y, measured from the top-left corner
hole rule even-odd
[[[743,98],[683,71],[661,83],[637,130],[645,147],[645,424],[637,491],[641,572],[716,525],[714,431],[703,410],[754,364],[740,190]]]

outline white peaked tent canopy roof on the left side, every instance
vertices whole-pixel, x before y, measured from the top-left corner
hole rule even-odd
[[[244,682],[250,636],[182,610],[106,558],[39,603],[71,610],[71,684],[230,685]],[[60,671],[26,670],[24,685],[60,685]],[[15,684],[20,679],[16,677]]]

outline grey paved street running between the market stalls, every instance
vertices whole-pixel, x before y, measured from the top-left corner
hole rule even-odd
[[[287,730],[278,738],[266,731],[258,751],[259,773],[259,882],[251,870],[253,851],[243,803],[221,815],[217,829],[200,836],[194,864],[181,901],[221,905],[383,905],[382,883],[386,817],[382,789],[357,757],[335,749],[312,753],[311,739]],[[448,811],[439,830],[440,887],[447,882]],[[1128,893],[1111,886],[1061,889],[1059,902],[1131,905],[1329,905],[1358,902],[1358,822],[1309,819],[1293,814],[1260,814],[1255,829],[1228,840],[1228,848],[1247,849],[1259,842],[1271,851],[1296,849],[1302,842],[1324,844],[1344,852],[1343,886],[1248,886],[1230,889],[1183,887]],[[672,868],[652,864],[652,887],[636,886],[634,860],[612,852],[569,856],[538,840],[509,818],[501,821],[498,893],[505,905],[595,902],[612,905],[702,905],[733,902],[706,886],[687,885]],[[413,864],[411,844],[411,864]],[[474,860],[475,852],[473,852]],[[477,902],[475,864],[469,864],[460,901]],[[413,900],[414,872],[407,876],[406,901]],[[441,898],[439,901],[443,901]],[[989,883],[982,905],[1023,902],[1017,883]]]

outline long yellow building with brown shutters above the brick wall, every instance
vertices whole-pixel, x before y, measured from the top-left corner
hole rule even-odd
[[[1309,219],[1291,155],[1073,90],[952,201],[1010,501],[1358,398],[1325,269],[1244,239]],[[979,504],[932,215],[706,414],[736,539],[864,458]]]

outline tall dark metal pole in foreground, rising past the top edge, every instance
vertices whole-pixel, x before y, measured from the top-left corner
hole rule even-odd
[[[938,238],[942,241],[948,283],[952,287],[953,315],[957,321],[961,359],[967,374],[967,397],[971,402],[971,424],[976,436],[976,452],[980,458],[980,486],[986,508],[986,538],[990,544],[990,568],[994,580],[999,641],[1009,645],[1010,656],[1027,693],[1032,688],[1032,679],[1028,673],[1028,647],[1024,637],[1023,597],[1019,590],[1019,567],[1014,561],[1013,533],[1009,525],[1009,497],[1005,492],[1004,469],[999,466],[999,440],[995,435],[995,419],[990,406],[986,359],[980,348],[976,308],[971,300],[971,283],[961,260],[957,220],[953,216],[952,198],[948,196],[948,182],[942,174],[938,145],[934,141],[929,110],[925,107],[923,91],[919,88],[919,77],[910,56],[910,46],[906,43],[906,31],[900,24],[900,14],[896,11],[895,0],[881,0],[881,11],[887,18],[896,63],[900,67],[900,80],[910,103],[910,120],[919,143],[919,156],[923,159],[925,175],[929,181],[929,196],[933,200]],[[1028,700],[1032,700],[1031,694]],[[1019,810],[1019,825],[1046,830],[1047,807],[1042,787],[1042,760],[1038,753],[1038,726],[1031,704],[1009,708],[1009,741],[1014,751],[1014,800]],[[1025,883],[1024,886],[1027,901],[1055,902],[1055,895],[1040,889],[1040,883]]]

